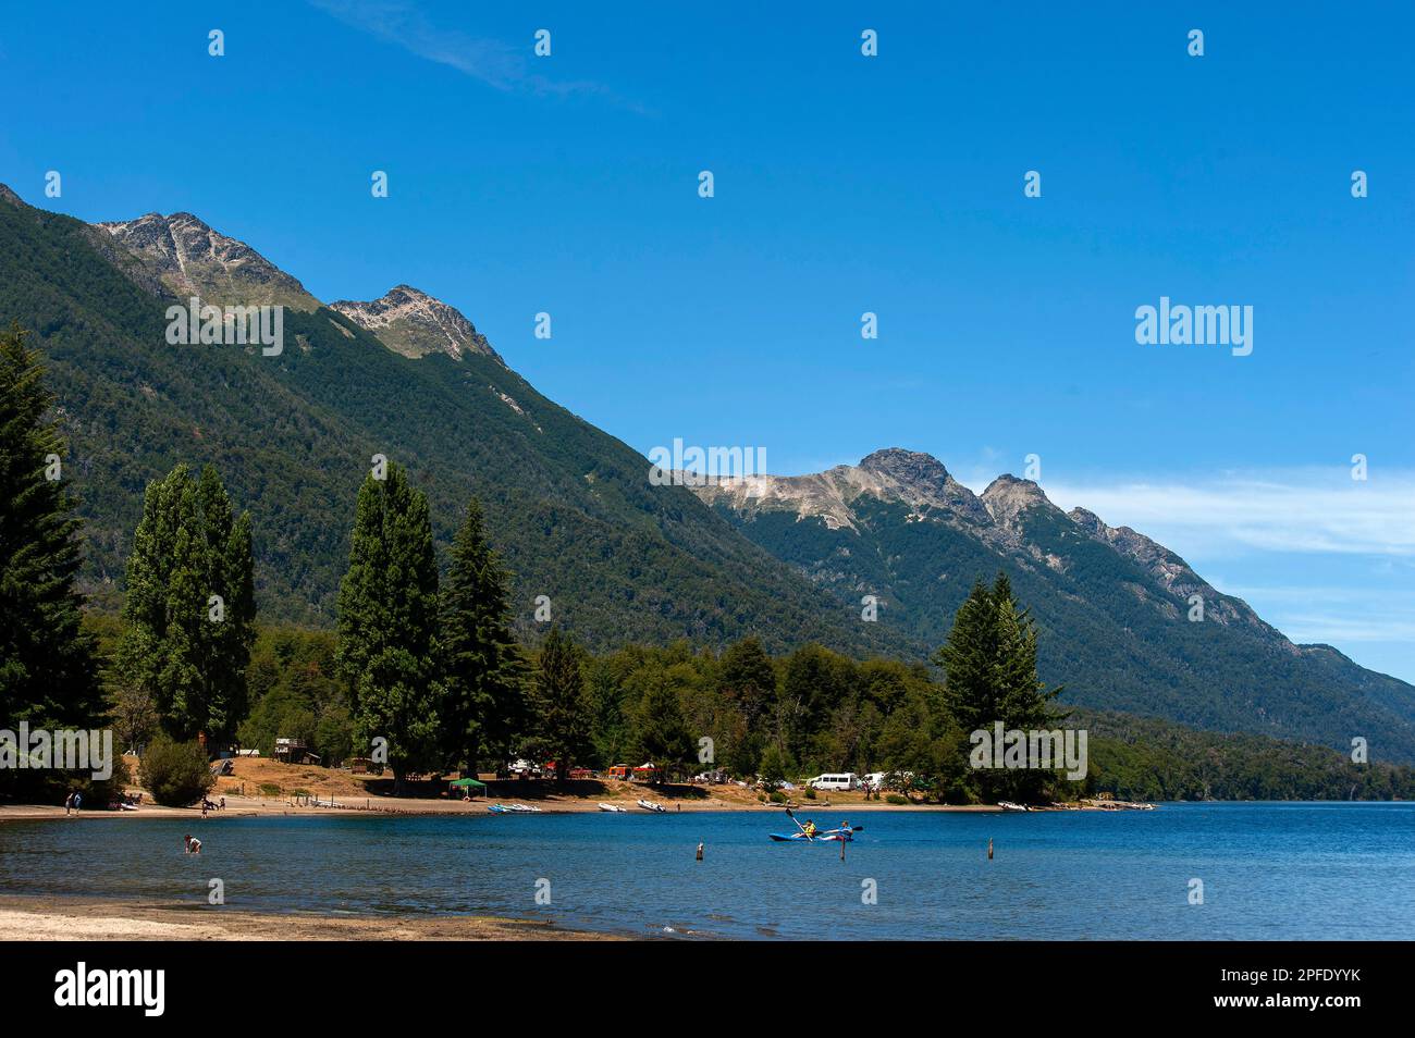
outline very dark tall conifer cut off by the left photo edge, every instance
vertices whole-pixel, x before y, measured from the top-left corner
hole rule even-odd
[[[47,413],[37,351],[18,325],[0,332],[0,718],[86,727],[102,703],[93,642],[74,581],[82,561],[64,443]],[[58,464],[55,464],[58,462]]]

